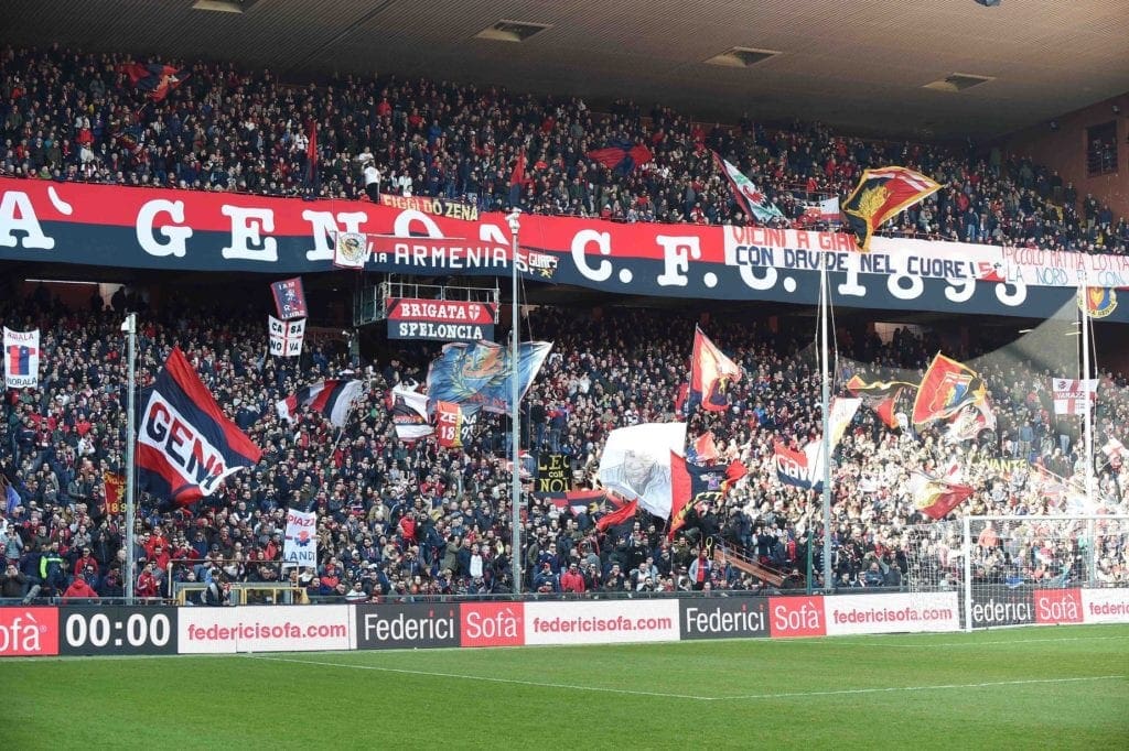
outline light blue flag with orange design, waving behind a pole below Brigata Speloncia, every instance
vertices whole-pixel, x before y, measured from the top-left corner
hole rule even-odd
[[[552,350],[551,342],[518,345],[518,398],[525,396]],[[510,396],[509,347],[493,342],[455,342],[443,347],[427,372],[432,401],[478,405],[485,412],[507,413]]]

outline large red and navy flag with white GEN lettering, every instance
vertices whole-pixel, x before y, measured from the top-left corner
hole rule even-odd
[[[257,463],[261,456],[174,347],[141,414],[140,486],[178,506],[190,505],[215,493],[228,475]]]

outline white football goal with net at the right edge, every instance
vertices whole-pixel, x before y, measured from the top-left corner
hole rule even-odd
[[[1129,515],[965,516],[909,528],[911,591],[957,591],[962,627],[1082,622],[1082,592],[1129,587]]]

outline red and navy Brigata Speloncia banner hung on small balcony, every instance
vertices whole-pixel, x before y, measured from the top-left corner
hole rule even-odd
[[[478,342],[493,338],[497,306],[491,302],[390,298],[390,339]]]

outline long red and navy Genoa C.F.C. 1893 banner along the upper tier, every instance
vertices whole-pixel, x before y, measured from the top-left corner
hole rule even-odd
[[[334,271],[338,232],[364,232],[368,271],[510,274],[501,213],[467,221],[409,203],[11,178],[0,189],[5,259],[306,274]],[[1092,315],[1129,323],[1129,301],[1119,299],[1129,258],[1119,256],[892,238],[875,238],[864,255],[829,232],[535,215],[522,217],[519,242],[526,280],[636,295],[814,304],[824,263],[839,306],[1049,318],[1084,277],[1103,291]]]

